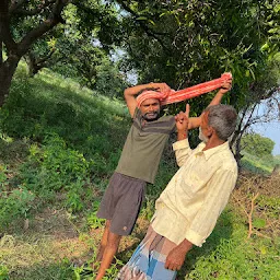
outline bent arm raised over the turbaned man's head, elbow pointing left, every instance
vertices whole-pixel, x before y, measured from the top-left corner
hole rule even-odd
[[[145,90],[167,92],[171,88],[166,83],[147,83],[126,89],[124,95],[131,117],[133,117],[137,107],[136,96]]]

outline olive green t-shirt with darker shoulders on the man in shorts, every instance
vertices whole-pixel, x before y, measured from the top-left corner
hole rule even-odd
[[[153,184],[163,149],[174,129],[174,116],[145,121],[137,108],[116,172]]]

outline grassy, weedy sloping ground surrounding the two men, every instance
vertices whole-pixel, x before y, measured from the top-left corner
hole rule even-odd
[[[0,279],[94,279],[104,221],[101,197],[130,126],[122,101],[21,66],[0,109]],[[178,279],[280,279],[279,178],[271,163],[246,155],[226,210]],[[176,171],[166,148],[133,234],[124,238],[106,279],[114,279],[144,236],[154,201]],[[255,170],[254,170],[255,168]]]

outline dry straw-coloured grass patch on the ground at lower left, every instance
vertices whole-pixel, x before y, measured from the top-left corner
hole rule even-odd
[[[24,223],[22,223],[24,224]],[[52,264],[69,259],[81,266],[92,258],[91,237],[79,232],[80,224],[71,221],[65,210],[46,208],[18,233],[0,238],[0,262],[16,271],[38,264]]]

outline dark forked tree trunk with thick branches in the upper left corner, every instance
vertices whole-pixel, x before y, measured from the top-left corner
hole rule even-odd
[[[36,8],[25,7],[26,0],[21,1],[0,1],[0,107],[3,105],[9,94],[12,78],[20,59],[30,50],[31,46],[48,31],[52,30],[57,24],[65,23],[61,12],[70,0],[42,1]],[[38,16],[40,13],[47,12],[48,15],[31,31],[26,33],[18,43],[13,38],[11,20],[16,20],[19,14],[26,16]],[[5,46],[8,59],[3,62],[2,47]]]

